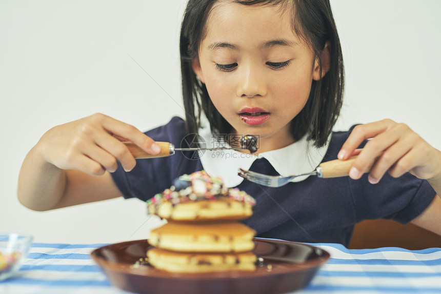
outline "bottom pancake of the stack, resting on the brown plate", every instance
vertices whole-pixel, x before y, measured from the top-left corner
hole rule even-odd
[[[213,272],[255,269],[256,256],[244,253],[182,253],[150,248],[149,263],[155,268],[170,272]]]

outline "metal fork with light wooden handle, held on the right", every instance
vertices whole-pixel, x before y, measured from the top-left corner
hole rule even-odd
[[[337,177],[346,177],[349,175],[349,170],[352,167],[357,156],[352,156],[348,160],[331,160],[327,162],[321,163],[317,168],[311,172],[289,175],[288,177],[283,177],[282,175],[267,175],[263,173],[258,173],[255,171],[245,170],[239,168],[239,172],[237,173],[240,177],[268,187],[280,187],[288,184],[294,178],[304,177],[305,175],[317,175],[318,178],[337,178]],[[371,170],[373,163],[369,165],[368,170]]]

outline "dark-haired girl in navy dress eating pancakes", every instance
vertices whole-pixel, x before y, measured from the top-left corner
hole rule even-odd
[[[180,49],[185,121],[174,117],[145,134],[103,114],[56,126],[25,159],[19,200],[35,210],[121,196],[147,200],[179,175],[205,169],[256,199],[245,223],[258,237],[347,246],[355,223],[376,218],[441,234],[441,152],[390,120],[332,132],[344,76],[327,0],[190,0]],[[118,140],[157,154],[154,141],[187,147],[196,133],[213,145],[257,135],[259,155],[177,152],[135,162]],[[353,154],[346,178],[269,188],[237,176],[238,168],[309,172]]]

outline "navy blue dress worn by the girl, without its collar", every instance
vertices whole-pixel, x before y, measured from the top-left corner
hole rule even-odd
[[[334,132],[323,161],[337,158],[350,131]],[[185,123],[179,117],[166,125],[147,131],[155,141],[182,146]],[[125,172],[121,166],[112,173],[125,198],[143,201],[172,185],[184,173],[204,169],[192,151],[172,156],[138,160],[136,167]],[[250,170],[278,175],[265,159],[256,159]],[[349,177],[304,181],[271,188],[243,181],[237,186],[256,199],[253,216],[245,224],[257,231],[257,237],[295,242],[329,242],[349,245],[354,224],[365,219],[393,219],[408,223],[430,204],[435,191],[425,180],[406,173],[392,178],[388,173],[372,185],[367,174],[362,179]]]

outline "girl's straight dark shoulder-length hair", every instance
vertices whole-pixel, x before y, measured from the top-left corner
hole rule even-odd
[[[189,0],[181,28],[181,71],[186,126],[189,133],[197,133],[204,111],[213,132],[230,133],[232,126],[217,111],[205,84],[196,78],[192,62],[206,33],[206,22],[219,0]],[[332,16],[329,0],[232,0],[244,5],[283,5],[293,12],[294,31],[312,48],[321,65],[321,53],[330,42],[330,69],[325,76],[312,81],[311,92],[305,107],[291,121],[294,140],[305,134],[316,147],[326,144],[343,103],[344,66],[342,49]],[[320,73],[322,69],[320,67]]]

